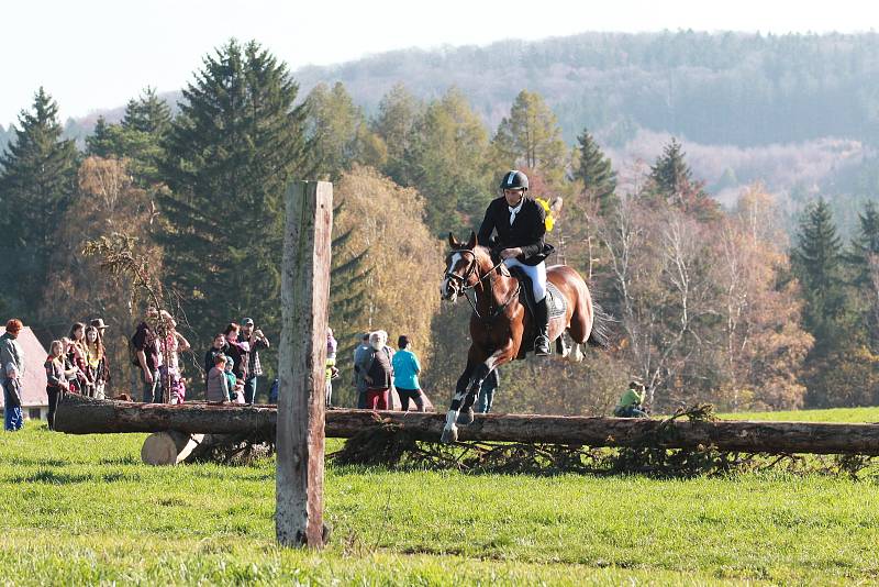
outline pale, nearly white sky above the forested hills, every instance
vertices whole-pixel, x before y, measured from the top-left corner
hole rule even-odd
[[[869,0],[0,0],[0,124],[42,85],[62,119],[182,87],[201,56],[255,38],[291,69],[383,51],[587,31],[863,32]]]

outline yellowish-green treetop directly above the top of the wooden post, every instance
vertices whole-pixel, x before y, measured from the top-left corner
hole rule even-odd
[[[319,176],[335,180],[355,163],[381,166],[387,147],[372,133],[363,110],[345,86],[318,84],[305,99],[308,133],[314,140],[313,162]]]

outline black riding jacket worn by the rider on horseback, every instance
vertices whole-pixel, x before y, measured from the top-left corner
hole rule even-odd
[[[496,250],[521,247],[522,254],[516,257],[525,265],[538,265],[546,259],[553,247],[543,241],[546,234],[546,211],[534,198],[525,196],[522,209],[515,215],[513,225],[510,225],[510,207],[507,199],[501,196],[491,200],[486,210],[486,218],[477,235],[479,244],[492,246],[491,234],[497,231],[498,240],[493,245]]]

